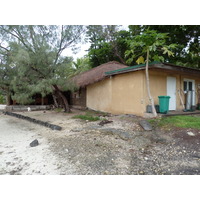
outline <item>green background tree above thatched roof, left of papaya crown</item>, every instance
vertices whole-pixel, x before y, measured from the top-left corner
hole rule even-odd
[[[92,67],[109,61],[126,64],[124,52],[127,47],[127,31],[118,31],[116,25],[92,25],[87,27],[87,40],[91,43],[88,56]]]

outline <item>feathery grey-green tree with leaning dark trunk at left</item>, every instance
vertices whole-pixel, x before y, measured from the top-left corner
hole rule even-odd
[[[11,65],[17,70],[11,81],[13,98],[28,103],[33,94],[53,93],[62,100],[65,111],[69,111],[63,91],[71,84],[63,72],[72,60],[64,58],[62,52],[79,42],[83,31],[83,26],[71,25],[0,26],[1,40],[7,41]]]

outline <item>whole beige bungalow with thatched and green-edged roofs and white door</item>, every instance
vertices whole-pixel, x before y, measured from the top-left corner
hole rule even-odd
[[[149,78],[155,104],[159,104],[158,96],[170,96],[169,110],[183,110],[187,91],[192,91],[194,108],[199,102],[198,69],[153,62],[149,64]],[[84,99],[82,107],[144,116],[150,104],[144,64],[128,67],[113,61],[76,76],[74,81],[80,87],[78,98]]]

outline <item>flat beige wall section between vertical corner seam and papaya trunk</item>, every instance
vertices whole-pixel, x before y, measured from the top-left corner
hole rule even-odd
[[[143,72],[119,74],[112,78],[112,113],[136,114],[144,112]]]

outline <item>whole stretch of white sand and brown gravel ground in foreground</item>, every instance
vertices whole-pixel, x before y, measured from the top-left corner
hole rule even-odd
[[[0,112],[0,174],[200,174],[198,130],[143,131],[127,115],[100,126],[72,118],[80,113],[20,113],[62,127],[53,131]]]

